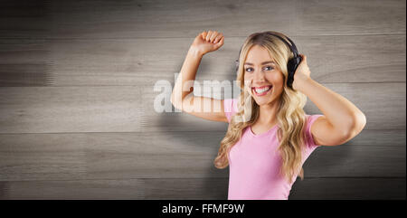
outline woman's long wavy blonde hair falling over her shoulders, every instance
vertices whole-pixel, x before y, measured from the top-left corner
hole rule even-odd
[[[230,149],[241,139],[243,129],[253,125],[259,118],[259,105],[251,97],[251,94],[248,92],[249,90],[245,89],[243,71],[243,64],[249,50],[253,45],[257,44],[268,50],[270,57],[274,58],[278,70],[284,75],[284,88],[279,98],[279,109],[277,112],[278,137],[280,142],[279,153],[282,161],[279,172],[291,183],[295,175],[299,175],[301,180],[304,178],[302,149],[306,146],[307,140],[305,132],[307,117],[303,108],[307,103],[307,96],[287,86],[286,81],[289,75],[287,63],[293,57],[293,53],[289,50],[289,46],[286,43],[283,43],[271,33],[278,34],[287,39],[283,33],[278,32],[252,33],[241,47],[236,79],[241,87],[241,93],[238,98],[238,111],[232,116],[226,135],[221,141],[218,156],[216,156],[213,163],[216,168],[222,169],[228,166]]]

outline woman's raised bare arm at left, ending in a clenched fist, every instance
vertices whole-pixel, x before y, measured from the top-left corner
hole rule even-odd
[[[228,122],[223,112],[223,100],[194,96],[195,75],[204,54],[218,50],[223,42],[222,33],[216,31],[199,33],[195,37],[171,94],[171,102],[176,109],[182,109],[199,118]]]

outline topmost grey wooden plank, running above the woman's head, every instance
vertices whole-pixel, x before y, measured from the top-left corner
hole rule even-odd
[[[37,1],[36,1],[37,2]],[[5,1],[3,38],[405,34],[405,1]],[[255,15],[253,15],[255,14]]]

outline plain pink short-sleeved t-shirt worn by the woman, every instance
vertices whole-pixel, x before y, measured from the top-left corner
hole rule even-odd
[[[223,103],[228,121],[237,111],[237,99],[226,99]],[[303,163],[317,148],[311,135],[312,123],[322,115],[307,115],[307,148],[303,150]],[[229,153],[229,192],[228,200],[289,199],[291,186],[279,175],[281,158],[279,156],[278,126],[267,132],[255,135],[251,127],[243,129],[239,140]]]

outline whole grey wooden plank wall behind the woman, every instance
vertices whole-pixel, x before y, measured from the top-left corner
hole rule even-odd
[[[308,55],[314,80],[366,115],[359,136],[317,148],[289,199],[405,199],[405,5],[2,1],[0,199],[227,199],[229,170],[213,166],[227,125],[154,109],[156,82],[171,89],[209,29],[225,43],[197,81],[235,80],[244,39],[279,31]],[[305,110],[321,113],[310,100]]]

